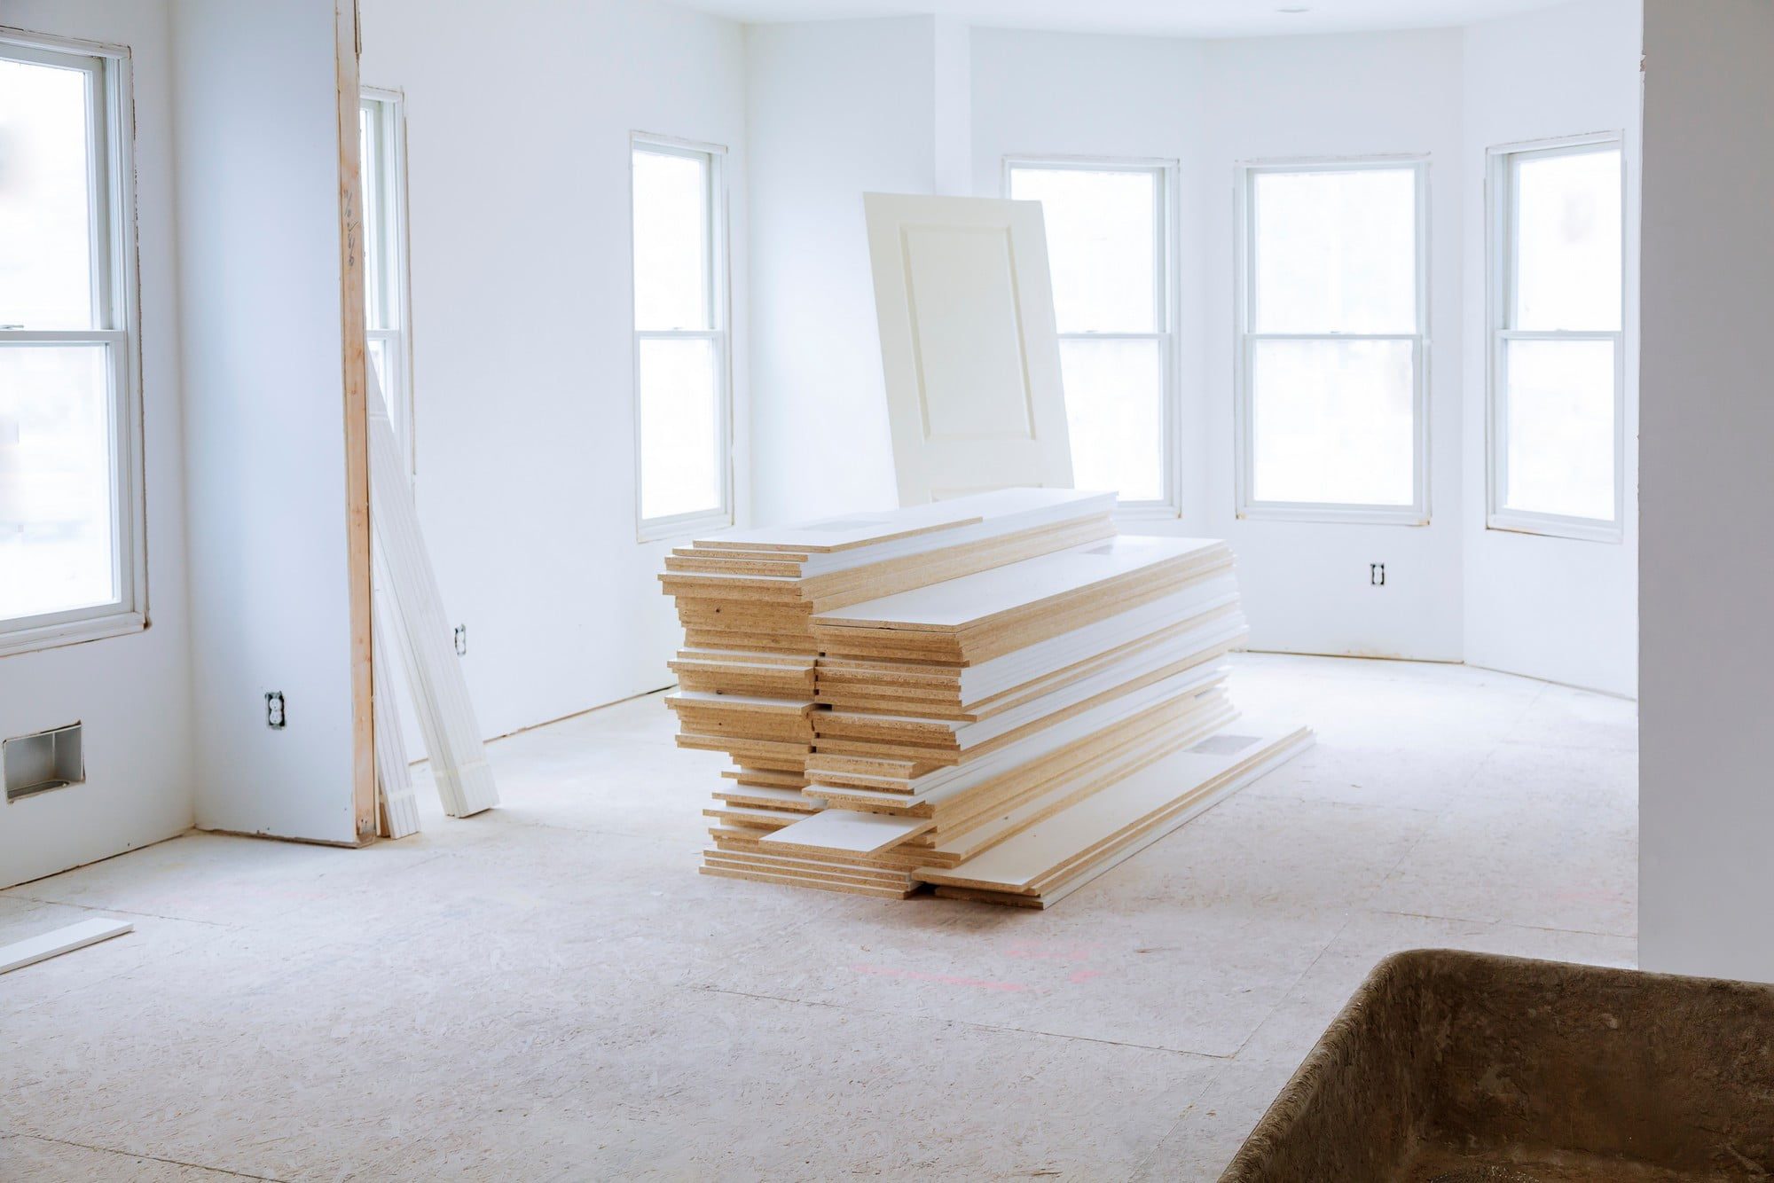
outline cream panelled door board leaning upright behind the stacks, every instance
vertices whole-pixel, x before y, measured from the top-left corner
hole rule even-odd
[[[864,193],[899,504],[1071,486],[1041,204]]]

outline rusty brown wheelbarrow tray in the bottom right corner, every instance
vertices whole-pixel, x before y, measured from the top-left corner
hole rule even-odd
[[[1448,949],[1375,967],[1221,1183],[1774,1176],[1774,986]]]

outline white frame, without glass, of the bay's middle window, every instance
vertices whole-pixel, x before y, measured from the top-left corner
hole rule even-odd
[[[1417,236],[1417,330],[1414,333],[1258,333],[1256,325],[1256,199],[1254,179],[1265,172],[1357,172],[1400,170],[1416,174]],[[1394,156],[1339,156],[1300,160],[1252,160],[1236,165],[1236,344],[1233,431],[1235,505],[1240,520],[1332,521],[1370,525],[1430,523],[1430,158],[1421,153]],[[1252,495],[1256,479],[1256,440],[1252,436],[1251,372],[1258,341],[1409,341],[1412,349],[1412,481],[1409,505],[1346,505],[1334,502],[1260,502]]]

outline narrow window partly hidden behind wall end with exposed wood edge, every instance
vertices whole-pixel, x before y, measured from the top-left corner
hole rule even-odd
[[[413,454],[412,342],[406,333],[406,114],[396,90],[364,87],[357,108],[364,184],[364,349],[406,458]]]

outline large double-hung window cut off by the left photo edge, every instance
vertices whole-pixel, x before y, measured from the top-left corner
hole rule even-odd
[[[124,53],[0,37],[0,653],[147,619]]]

